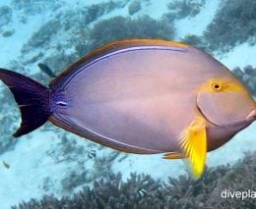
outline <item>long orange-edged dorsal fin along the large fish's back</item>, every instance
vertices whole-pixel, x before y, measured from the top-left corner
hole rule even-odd
[[[49,86],[52,87],[60,79],[66,77],[73,71],[78,70],[82,64],[91,62],[104,54],[111,53],[121,49],[130,48],[130,47],[136,47],[136,46],[138,47],[139,46],[165,46],[165,47],[172,47],[177,49],[189,47],[189,45],[181,42],[170,41],[170,40],[160,40],[160,39],[125,39],[125,40],[114,41],[106,44],[105,46],[96,48],[96,50],[94,50],[90,54],[82,57],[76,63],[71,65],[67,70],[65,70],[58,78],[53,79],[50,82]]]

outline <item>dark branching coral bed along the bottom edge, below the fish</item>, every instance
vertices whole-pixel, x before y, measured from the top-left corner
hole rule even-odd
[[[85,186],[73,197],[57,199],[44,196],[41,200],[22,202],[12,209],[24,208],[254,208],[255,197],[222,197],[222,192],[254,190],[256,181],[256,152],[247,153],[233,166],[207,169],[203,177],[194,181],[188,176],[169,178],[167,183],[148,175],[131,174],[123,182],[121,174],[108,173]]]

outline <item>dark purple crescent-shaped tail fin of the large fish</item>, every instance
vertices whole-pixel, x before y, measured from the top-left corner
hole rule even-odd
[[[15,137],[29,133],[43,125],[50,116],[49,92],[31,78],[0,69],[0,79],[10,88],[22,115],[22,124]]]

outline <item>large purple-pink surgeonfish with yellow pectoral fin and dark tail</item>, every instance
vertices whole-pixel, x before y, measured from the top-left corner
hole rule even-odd
[[[15,137],[49,121],[119,151],[186,159],[195,179],[207,152],[256,119],[252,95],[222,63],[171,40],[108,43],[47,87],[6,69],[0,79],[20,107]]]

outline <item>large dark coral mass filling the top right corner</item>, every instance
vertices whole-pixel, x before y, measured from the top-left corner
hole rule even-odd
[[[256,36],[256,2],[226,0],[207,26],[205,38],[211,50],[228,51]],[[255,40],[251,40],[251,45]]]

